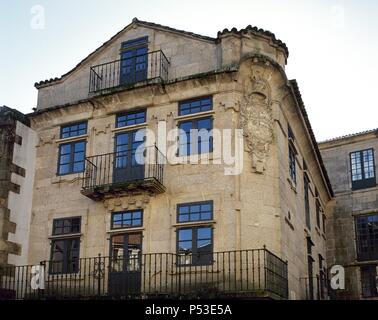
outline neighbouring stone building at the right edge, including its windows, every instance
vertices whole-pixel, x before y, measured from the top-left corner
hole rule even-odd
[[[345,268],[336,299],[378,298],[378,129],[319,144],[335,199],[327,223],[327,262]]]

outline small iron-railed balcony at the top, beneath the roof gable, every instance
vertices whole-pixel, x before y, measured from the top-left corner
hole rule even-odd
[[[92,66],[89,93],[103,94],[138,83],[162,83],[168,80],[168,68],[169,61],[161,50]]]

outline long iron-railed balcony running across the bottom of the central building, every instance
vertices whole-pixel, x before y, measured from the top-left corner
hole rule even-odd
[[[201,253],[205,254],[205,253]],[[43,287],[31,286],[32,266],[0,270],[0,299],[287,299],[287,263],[266,249],[211,253],[213,263],[186,265],[182,255],[141,254],[41,262]],[[35,286],[34,286],[35,288]]]

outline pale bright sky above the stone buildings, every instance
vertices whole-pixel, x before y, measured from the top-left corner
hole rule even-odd
[[[378,128],[376,0],[0,0],[0,105],[31,112],[35,82],[68,72],[134,17],[211,37],[269,30],[289,48],[286,72],[318,141]]]

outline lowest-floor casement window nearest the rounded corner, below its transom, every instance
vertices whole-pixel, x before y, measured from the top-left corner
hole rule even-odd
[[[212,264],[212,228],[206,226],[179,229],[177,231],[177,253],[180,265]]]

